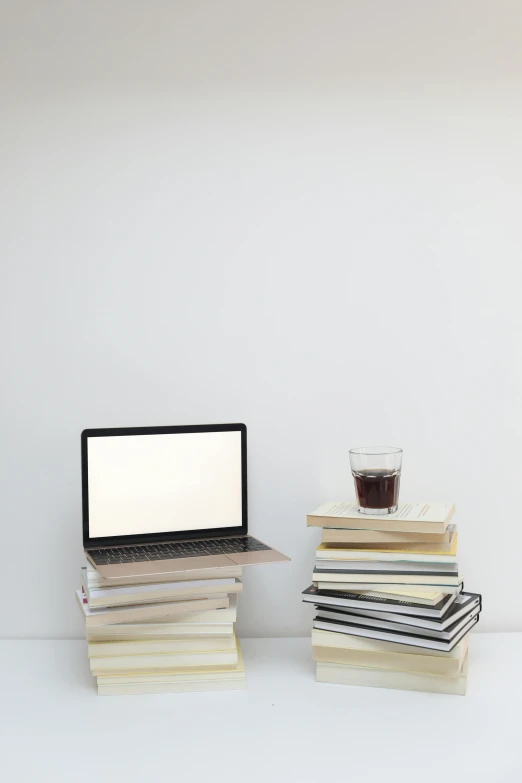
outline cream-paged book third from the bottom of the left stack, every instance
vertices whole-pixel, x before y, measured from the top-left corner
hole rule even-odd
[[[200,637],[192,639],[129,639],[89,641],[89,658],[103,658],[109,655],[156,655],[170,652],[200,652],[202,650],[235,650],[233,633],[226,636]]]

